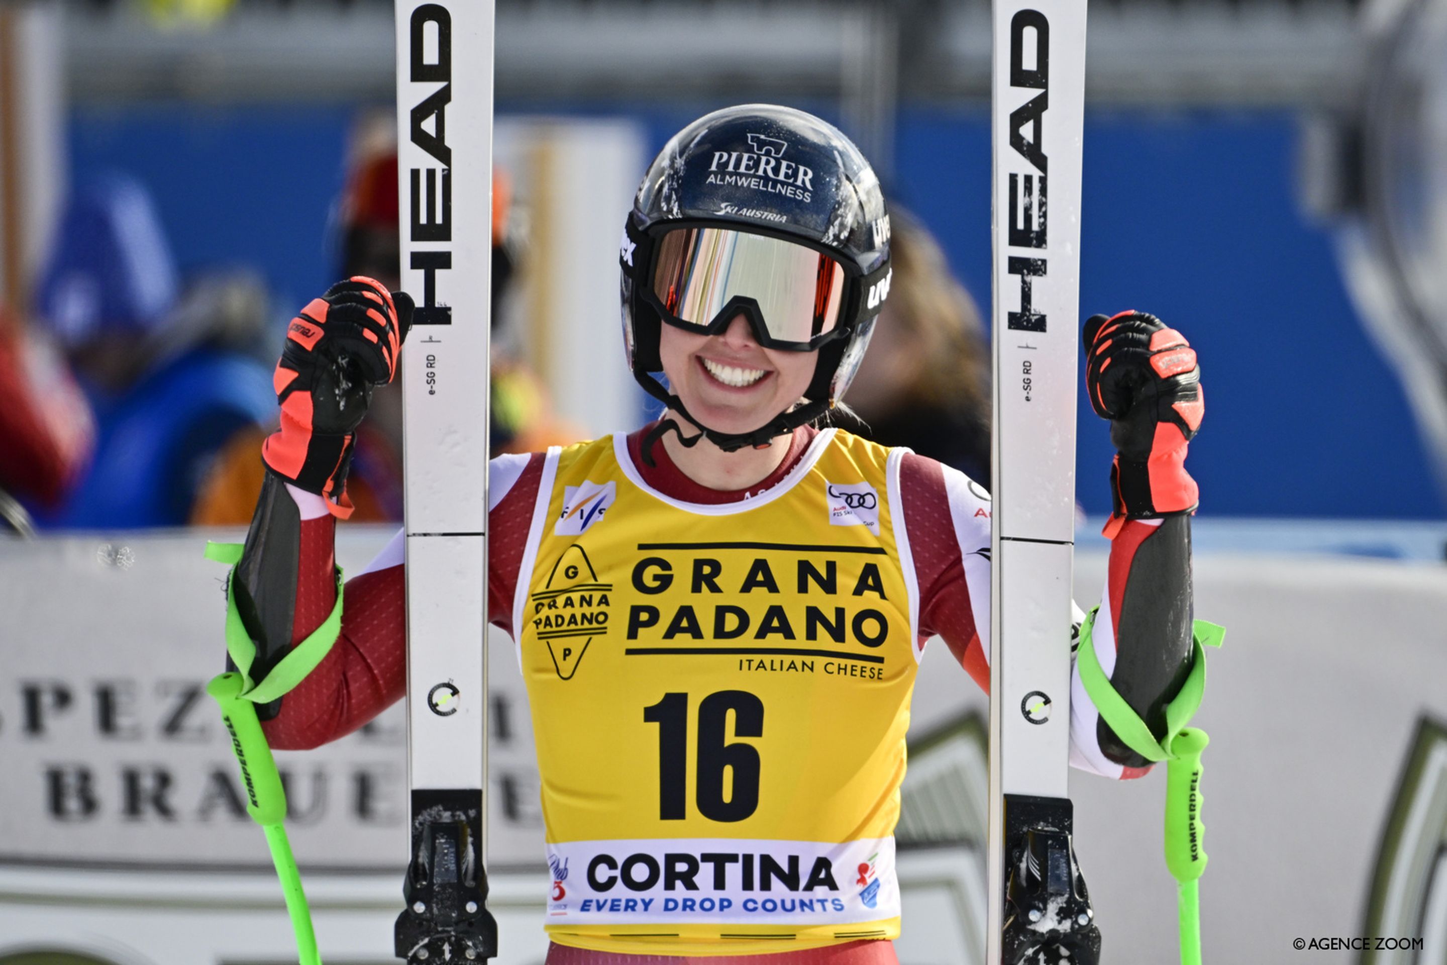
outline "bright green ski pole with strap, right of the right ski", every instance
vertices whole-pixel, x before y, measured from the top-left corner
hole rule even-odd
[[[1205,731],[1187,726],[1205,693],[1205,648],[1220,647],[1226,628],[1204,619],[1192,626],[1191,670],[1175,699],[1166,705],[1166,734],[1159,741],[1126,699],[1111,686],[1095,655],[1095,608],[1081,628],[1075,667],[1100,716],[1124,744],[1147,761],[1166,762],[1166,868],[1176,880],[1176,913],[1181,922],[1181,962],[1201,965],[1201,904],[1198,878],[1205,872],[1205,825],[1201,822],[1201,751]]]

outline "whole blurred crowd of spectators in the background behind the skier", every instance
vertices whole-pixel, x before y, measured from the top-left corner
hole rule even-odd
[[[493,323],[527,258],[506,172],[493,178]],[[893,213],[894,281],[870,353],[832,424],[990,479],[990,362],[980,311],[929,231]],[[365,153],[337,201],[339,278],[399,285],[396,155]],[[297,305],[245,266],[182,273],[148,185],[111,172],[71,191],[29,305],[0,305],[0,530],[246,525],[272,369]],[[616,324],[601,307],[599,324]],[[582,433],[493,341],[493,451]],[[376,394],[353,456],[353,519],[402,515],[401,386]]]

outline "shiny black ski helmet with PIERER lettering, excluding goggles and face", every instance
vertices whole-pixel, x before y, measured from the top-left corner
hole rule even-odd
[[[765,161],[767,159],[767,161]],[[624,226],[624,347],[654,398],[697,424],[653,373],[664,324],[642,298],[657,240],[674,227],[725,227],[778,237],[833,258],[845,271],[839,337],[818,349],[807,402],[742,434],[703,434],[724,450],[767,444],[829,411],[858,370],[890,286],[890,218],[870,162],[836,127],[792,107],[741,104],[674,135],[644,175]],[[680,434],[682,437],[682,434]]]

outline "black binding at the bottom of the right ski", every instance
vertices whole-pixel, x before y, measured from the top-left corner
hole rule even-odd
[[[1098,965],[1100,929],[1072,829],[1068,797],[1004,796],[1001,965]]]

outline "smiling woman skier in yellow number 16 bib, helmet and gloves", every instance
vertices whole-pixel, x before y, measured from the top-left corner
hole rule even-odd
[[[933,635],[988,683],[990,496],[818,427],[888,294],[888,242],[878,181],[838,130],[757,104],[702,117],[650,166],[621,250],[628,362],[661,418],[492,460],[489,615],[517,641],[564,883],[548,965],[896,962],[910,689]],[[333,608],[352,433],[410,315],[355,278],[291,326],[236,580],[256,679]],[[1198,369],[1150,315],[1097,315],[1085,336],[1120,450],[1095,647],[1159,736],[1191,661]],[[344,599],[330,654],[265,709],[275,748],[402,694],[401,534]],[[1145,773],[1078,684],[1071,728],[1077,767]]]

